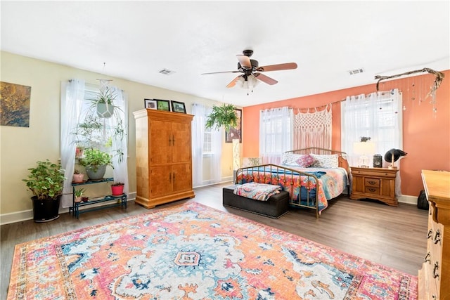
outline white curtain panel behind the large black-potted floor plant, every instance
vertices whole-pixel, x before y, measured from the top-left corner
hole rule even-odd
[[[75,136],[73,129],[79,122],[84,101],[84,80],[72,79],[61,84],[61,165],[65,169],[62,207],[72,206],[72,174],[75,169]]]

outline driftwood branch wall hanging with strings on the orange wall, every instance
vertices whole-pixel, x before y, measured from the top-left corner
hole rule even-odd
[[[406,80],[401,81],[401,84],[397,81],[387,81],[380,84],[380,81],[386,79],[393,79],[397,77],[404,77],[410,74],[428,72],[424,76],[420,77],[408,77]],[[404,72],[401,74],[395,74],[391,76],[380,76],[376,75],[375,79],[378,79],[376,88],[377,91],[380,89],[382,91],[389,91],[391,89],[400,89],[405,95],[409,97],[412,103],[418,103],[420,105],[425,100],[430,98],[430,104],[432,105],[432,112],[436,116],[437,113],[437,102],[436,102],[436,91],[444,80],[444,73],[432,70],[428,67],[424,67],[421,70],[414,70],[410,72]],[[406,110],[406,102],[404,99],[403,110]]]

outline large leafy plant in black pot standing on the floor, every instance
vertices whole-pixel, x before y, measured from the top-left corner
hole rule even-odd
[[[59,163],[46,159],[38,161],[37,167],[28,169],[30,174],[25,181],[33,193],[33,219],[35,222],[48,222],[59,217],[59,204],[64,187],[64,170]]]

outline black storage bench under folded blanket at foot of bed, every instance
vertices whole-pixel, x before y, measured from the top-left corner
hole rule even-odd
[[[236,185],[230,185],[223,189],[224,207],[242,209],[274,219],[278,219],[289,210],[289,193],[284,190],[269,197],[267,201],[260,201],[235,195],[233,193],[235,187]]]

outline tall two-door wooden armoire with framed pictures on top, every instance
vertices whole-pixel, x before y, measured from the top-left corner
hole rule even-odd
[[[136,120],[135,202],[148,209],[195,197],[192,188],[193,115],[139,110]]]

